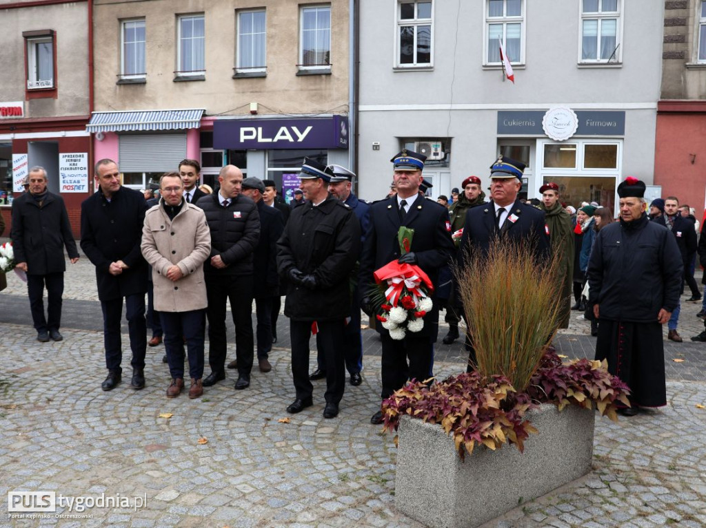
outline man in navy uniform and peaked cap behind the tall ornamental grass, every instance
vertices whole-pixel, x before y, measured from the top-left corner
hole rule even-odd
[[[491,202],[481,207],[473,207],[466,213],[460,250],[460,265],[465,266],[469,248],[472,254],[487,254],[491,242],[500,240],[528,240],[537,257],[548,258],[551,254],[549,235],[546,233],[544,212],[522,203],[517,193],[522,188],[522,161],[500,156],[491,166]],[[479,277],[479,280],[483,280]],[[466,339],[469,351],[467,371],[471,372],[476,362],[476,354],[469,338]]]

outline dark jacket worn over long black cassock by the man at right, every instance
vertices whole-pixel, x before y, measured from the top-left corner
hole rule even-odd
[[[647,214],[598,232],[588,263],[589,304],[600,319],[655,323],[659,310],[674,312],[683,264],[674,236]]]

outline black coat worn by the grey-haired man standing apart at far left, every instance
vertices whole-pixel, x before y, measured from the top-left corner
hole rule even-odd
[[[29,275],[66,271],[64,247],[68,258],[78,258],[64,199],[51,192],[41,208],[30,192],[13,202],[10,238],[15,262],[26,262]]]

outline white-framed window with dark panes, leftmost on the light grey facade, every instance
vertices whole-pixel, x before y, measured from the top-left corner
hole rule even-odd
[[[397,2],[398,68],[431,66],[433,5],[431,1]]]

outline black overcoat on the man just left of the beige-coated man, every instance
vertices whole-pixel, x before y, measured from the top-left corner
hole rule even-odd
[[[147,292],[147,262],[140,251],[147,202],[136,190],[121,187],[110,202],[99,188],[81,204],[81,249],[95,266],[98,298],[114,300]],[[123,261],[128,269],[109,273],[110,264]]]

